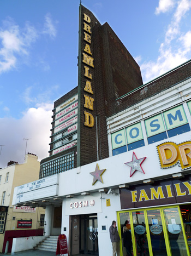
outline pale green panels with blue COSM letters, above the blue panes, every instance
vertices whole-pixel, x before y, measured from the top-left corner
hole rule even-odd
[[[191,107],[191,104],[188,103],[188,107],[189,106]],[[155,135],[157,135],[159,136],[158,138],[161,138],[157,141],[168,138],[167,134],[169,135],[169,137],[171,137],[176,134],[188,132],[188,130],[190,130],[186,113],[184,112],[184,108],[182,105],[174,107],[173,109],[170,109],[168,111],[164,111],[163,113],[160,113],[151,118],[148,118],[147,120],[145,120],[144,123],[147,139],[152,139]],[[144,123],[142,123],[142,125],[144,125]],[[183,127],[184,125],[188,127]],[[178,129],[177,127],[180,127],[180,129],[176,130],[176,132],[173,133],[174,129]],[[123,128],[115,133],[112,133],[112,149],[114,150],[117,147],[121,147],[126,144],[134,143],[143,139],[144,136],[142,133],[141,122],[139,122],[133,124],[132,126],[126,127],[125,130]],[[154,139],[152,140],[154,142]],[[151,144],[150,141],[148,141],[148,144]]]

